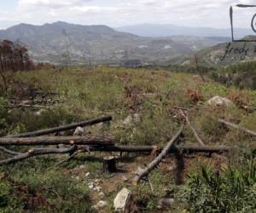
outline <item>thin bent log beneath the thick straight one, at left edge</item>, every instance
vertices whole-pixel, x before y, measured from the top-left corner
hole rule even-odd
[[[4,160],[0,160],[0,165],[3,164],[14,164],[21,160],[25,160],[27,158],[32,158],[38,155],[45,155],[45,154],[65,154],[65,153],[73,153],[77,150],[76,146],[67,148],[67,149],[58,149],[58,148],[38,148],[38,149],[31,149],[27,153],[21,153],[19,155],[15,155],[13,158],[7,158]]]

